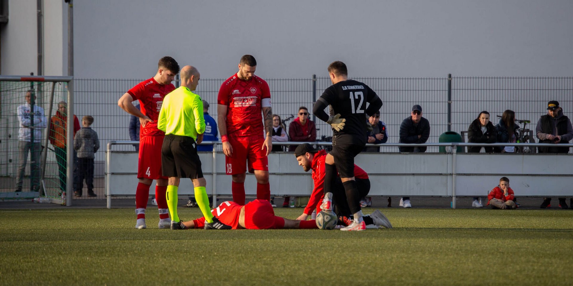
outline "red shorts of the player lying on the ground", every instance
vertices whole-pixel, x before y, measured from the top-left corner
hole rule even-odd
[[[269,201],[254,200],[245,205],[246,229],[277,229],[284,226],[285,220],[274,215]]]

